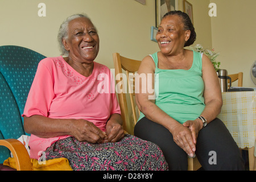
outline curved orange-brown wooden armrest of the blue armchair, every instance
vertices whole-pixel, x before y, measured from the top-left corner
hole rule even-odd
[[[30,156],[26,147],[16,139],[2,139],[0,146],[7,147],[14,156],[17,171],[32,171]]]

